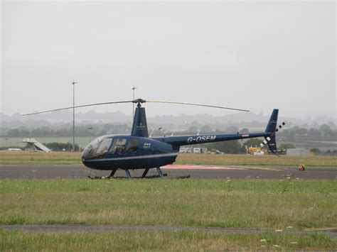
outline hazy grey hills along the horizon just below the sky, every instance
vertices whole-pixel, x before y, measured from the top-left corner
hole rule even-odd
[[[170,128],[188,128],[189,126],[208,125],[212,128],[227,128],[228,126],[237,126],[238,128],[264,128],[269,119],[269,114],[254,114],[252,112],[239,112],[225,116],[212,116],[209,114],[178,114],[164,116],[148,116],[147,121],[151,127],[170,127]],[[75,120],[77,125],[85,124],[127,124],[132,125],[132,116],[123,112],[105,112],[97,113],[88,111],[86,113],[76,113]],[[18,128],[18,127],[41,127],[41,126],[58,126],[73,121],[71,111],[56,111],[51,114],[37,114],[35,116],[21,116],[20,114],[6,115],[0,113],[1,128]],[[288,126],[299,126],[306,128],[318,128],[321,124],[336,125],[336,119],[328,117],[316,117],[309,119],[287,118],[280,114],[279,122],[287,121]]]

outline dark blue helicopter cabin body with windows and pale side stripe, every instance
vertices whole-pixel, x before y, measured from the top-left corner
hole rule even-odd
[[[82,153],[82,163],[97,170],[139,169],[166,165],[178,151],[167,143],[137,136],[108,135],[92,141]]]

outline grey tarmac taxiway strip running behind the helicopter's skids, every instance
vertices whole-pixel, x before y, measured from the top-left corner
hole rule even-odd
[[[166,178],[190,175],[193,179],[282,179],[291,176],[306,180],[336,180],[337,167],[307,167],[300,171],[296,166],[210,166],[210,165],[166,165],[162,167]],[[144,170],[131,170],[132,177],[140,177]],[[0,179],[85,179],[88,176],[108,176],[109,170],[92,170],[84,165],[0,165]],[[149,176],[157,175],[151,169]],[[117,177],[126,177],[118,170]]]

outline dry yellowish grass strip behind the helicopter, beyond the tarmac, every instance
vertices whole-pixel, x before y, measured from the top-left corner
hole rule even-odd
[[[68,165],[82,164],[81,153],[53,152],[34,153],[29,151],[0,151],[0,165]],[[299,165],[337,166],[337,157],[333,156],[281,156],[276,155],[211,155],[179,154],[176,164],[181,165]]]

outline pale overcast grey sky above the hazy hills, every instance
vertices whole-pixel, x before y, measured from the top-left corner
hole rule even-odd
[[[135,85],[143,99],[336,118],[336,3],[1,1],[0,111],[72,106],[73,79],[77,105],[132,99]]]

